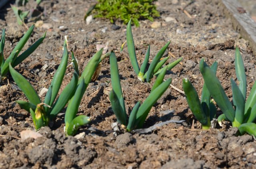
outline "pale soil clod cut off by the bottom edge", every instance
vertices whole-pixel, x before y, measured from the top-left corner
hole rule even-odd
[[[203,160],[194,161],[193,159],[181,159],[178,161],[170,161],[163,165],[161,169],[202,169],[204,166]]]

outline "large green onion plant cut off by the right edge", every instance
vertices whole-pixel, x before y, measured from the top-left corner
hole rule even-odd
[[[235,54],[236,77],[239,86],[231,78],[231,87],[233,94],[233,104],[226,96],[220,81],[214,71],[204,62],[200,61],[200,71],[204,78],[204,83],[208,88],[210,95],[224,114],[218,117],[218,121],[228,120],[233,127],[237,127],[240,134],[248,133],[256,136],[256,83],[252,86],[251,92],[246,100],[246,74],[244,63],[238,47]]]

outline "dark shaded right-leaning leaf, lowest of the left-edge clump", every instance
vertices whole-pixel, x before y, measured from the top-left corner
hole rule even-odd
[[[44,38],[46,36],[46,32],[42,37],[40,37],[33,45],[31,45],[26,51],[24,51],[20,56],[15,59],[15,61],[12,63],[12,67],[16,67],[18,64],[20,64],[24,59],[26,59],[31,53],[33,53],[36,48],[43,42]]]

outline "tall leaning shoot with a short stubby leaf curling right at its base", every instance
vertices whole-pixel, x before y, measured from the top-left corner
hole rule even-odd
[[[104,59],[104,57],[106,57],[106,55],[103,55],[101,57],[102,51],[103,49],[95,53],[95,55],[92,56],[92,58],[84,68],[84,71],[76,86],[76,92],[74,96],[72,96],[72,98],[70,99],[70,102],[68,103],[68,107],[65,114],[65,132],[67,136],[74,136],[80,126],[86,125],[90,122],[90,118],[88,116],[76,116],[76,114],[78,112],[78,108],[84,95],[84,92],[88,84],[90,83],[92,76],[94,75],[94,72],[98,67],[98,64],[102,61],[102,59]]]

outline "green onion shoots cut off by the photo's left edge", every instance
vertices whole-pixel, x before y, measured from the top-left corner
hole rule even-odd
[[[0,41],[0,82],[6,78],[6,75],[9,71],[9,64],[12,67],[16,67],[20,64],[24,59],[26,59],[31,53],[33,53],[36,48],[42,43],[45,38],[46,32],[40,39],[38,39],[34,44],[32,44],[26,51],[19,55],[20,51],[28,41],[32,31],[34,29],[34,25],[31,26],[28,31],[24,34],[24,36],[20,39],[18,44],[12,50],[10,56],[5,60],[4,59],[4,44],[5,44],[5,30],[2,30],[2,38]],[[18,56],[19,55],[19,56]]]

